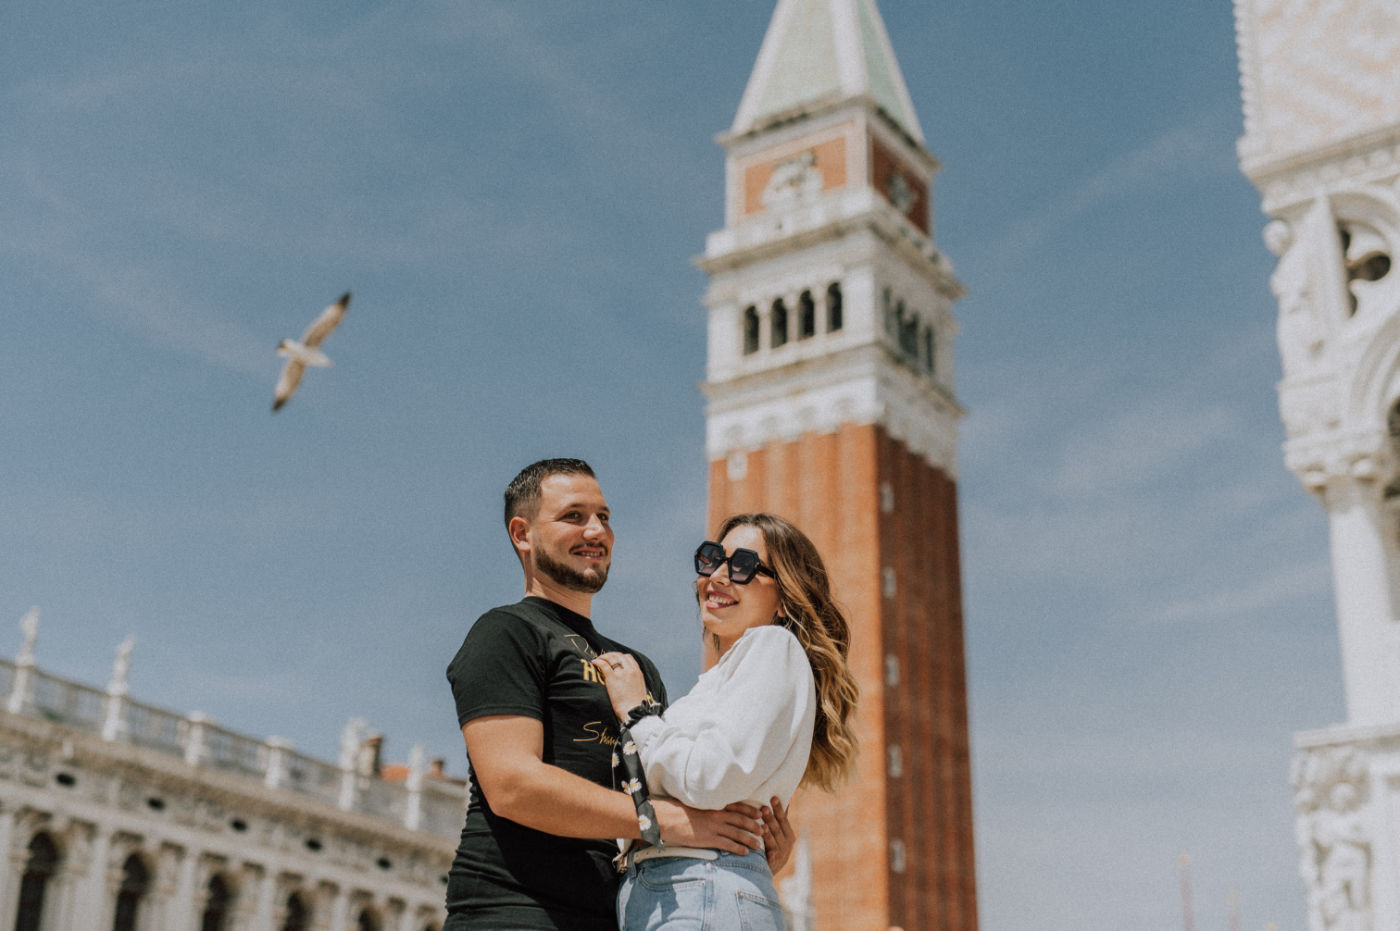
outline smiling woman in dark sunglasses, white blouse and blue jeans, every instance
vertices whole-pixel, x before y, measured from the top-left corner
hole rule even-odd
[[[757,808],[773,797],[787,805],[798,785],[832,790],[854,766],[858,687],[822,557],[771,514],[731,517],[715,536],[694,557],[708,666],[694,689],[658,714],[636,659],[595,661],[647,785],[694,808]],[[652,846],[626,861],[617,896],[626,931],[783,928],[762,850]]]

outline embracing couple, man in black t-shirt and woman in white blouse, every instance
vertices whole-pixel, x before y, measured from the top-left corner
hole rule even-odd
[[[482,615],[448,666],[472,792],[444,931],[783,928],[784,809],[855,756],[826,568],[780,517],[724,521],[694,554],[704,671],[668,703],[655,665],[589,619],[609,517],[580,459],[505,489],[525,598]]]

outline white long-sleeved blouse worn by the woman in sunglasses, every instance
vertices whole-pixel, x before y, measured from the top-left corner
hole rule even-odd
[[[692,808],[787,805],[806,771],[816,680],[784,627],[750,627],[694,689],[631,727],[652,795]]]

